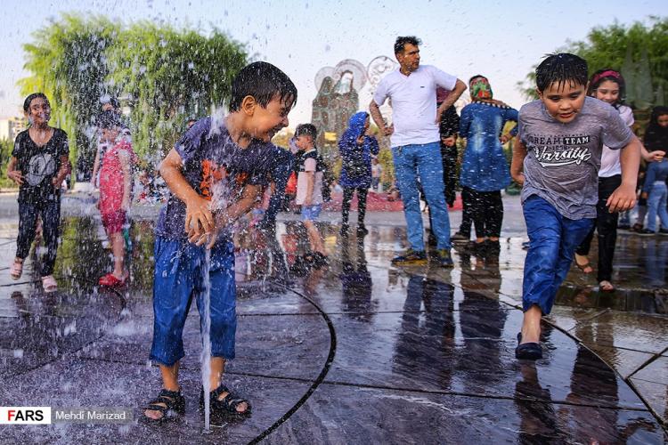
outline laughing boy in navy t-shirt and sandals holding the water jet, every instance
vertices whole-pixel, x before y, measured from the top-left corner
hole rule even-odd
[[[225,360],[234,358],[236,288],[229,227],[255,204],[271,168],[271,139],[288,125],[297,88],[280,69],[251,63],[232,81],[230,114],[201,119],[183,134],[160,166],[171,195],[156,227],[151,360],[159,363],[162,391],[144,410],[150,420],[183,412],[178,384],[183,325],[197,299],[205,247],[210,253],[211,368],[208,394],[213,412],[248,414],[250,404],[222,384]],[[200,403],[204,401],[203,391]]]

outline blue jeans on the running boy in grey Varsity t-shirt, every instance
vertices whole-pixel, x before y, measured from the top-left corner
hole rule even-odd
[[[591,230],[594,219],[568,219],[536,195],[525,200],[523,210],[529,252],[525,259],[522,306],[528,311],[537,304],[543,314],[548,314],[571,267],[575,248]]]

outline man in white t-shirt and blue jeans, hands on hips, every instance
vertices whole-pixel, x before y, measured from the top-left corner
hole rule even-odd
[[[434,222],[436,261],[444,267],[452,267],[450,219],[444,197],[438,123],[444,110],[466,91],[466,84],[436,67],[420,65],[420,43],[415,36],[396,38],[395,57],[400,68],[380,81],[369,110],[380,130],[391,136],[396,181],[411,244],[405,255],[396,256],[392,263],[427,263],[420,213],[420,180]],[[452,93],[436,108],[436,88],[439,86]],[[393,124],[389,126],[379,110],[387,99],[392,105]]]

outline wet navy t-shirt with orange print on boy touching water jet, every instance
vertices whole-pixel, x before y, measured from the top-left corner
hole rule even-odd
[[[264,186],[272,164],[273,144],[254,140],[242,149],[232,141],[224,122],[205,117],[176,142],[183,162],[182,174],[200,196],[211,200],[212,210],[238,200],[246,185]],[[162,208],[156,234],[167,239],[187,239],[185,204],[170,193]]]

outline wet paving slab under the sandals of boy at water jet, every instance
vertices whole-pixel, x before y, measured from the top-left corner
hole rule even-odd
[[[50,382],[45,391],[43,382]],[[134,409],[129,425],[0,426],[5,443],[246,443],[281,418],[304,395],[310,383],[248,376],[225,377],[253,405],[246,419],[212,417],[212,433],[202,435],[204,419],[198,410],[199,370],[180,373],[186,414],[175,422],[144,425],[141,409],[159,392],[159,370],[97,360],[63,360],[16,379],[0,389],[7,406],[108,407]]]

